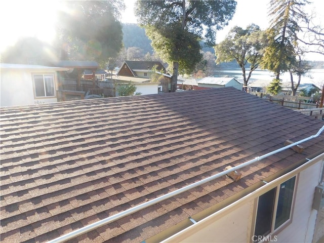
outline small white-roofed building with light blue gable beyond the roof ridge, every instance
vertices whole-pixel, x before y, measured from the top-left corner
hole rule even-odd
[[[233,87],[242,90],[243,85],[233,77],[204,77],[197,80],[198,88],[224,88]]]

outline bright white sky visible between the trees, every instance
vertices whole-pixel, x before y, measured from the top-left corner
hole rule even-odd
[[[136,0],[125,0],[126,11],[121,22],[136,23],[133,13]],[[310,0],[312,4],[307,10],[314,9],[318,15],[318,21],[324,25],[323,0]],[[269,0],[237,0],[236,12],[229,21],[229,25],[217,32],[216,43],[222,41],[228,31],[235,25],[246,28],[255,23],[261,29],[266,29],[269,24],[267,18]],[[15,44],[20,36],[34,36],[42,41],[51,43],[54,38],[54,22],[56,20],[55,10],[59,7],[57,0],[18,0],[0,1],[0,52],[6,47]],[[308,58],[309,59],[309,58]],[[314,55],[311,60],[322,60],[322,55]]]

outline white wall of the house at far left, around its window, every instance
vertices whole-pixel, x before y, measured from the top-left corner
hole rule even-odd
[[[55,92],[57,90],[56,72],[50,69],[11,69],[2,68],[0,72],[0,106],[30,105],[35,103],[57,102],[56,97],[35,98],[32,73],[54,74]]]

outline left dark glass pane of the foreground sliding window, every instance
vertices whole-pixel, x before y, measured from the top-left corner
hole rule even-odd
[[[264,193],[259,197],[257,219],[254,235],[267,235],[271,231],[275,189]]]

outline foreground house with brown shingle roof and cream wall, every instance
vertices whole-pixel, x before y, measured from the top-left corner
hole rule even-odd
[[[219,88],[3,107],[0,117],[1,242],[98,222],[67,242],[322,237],[324,122],[256,96]]]

